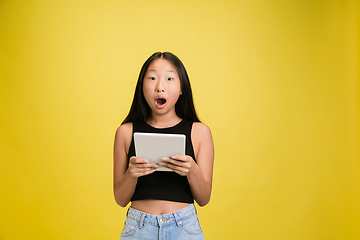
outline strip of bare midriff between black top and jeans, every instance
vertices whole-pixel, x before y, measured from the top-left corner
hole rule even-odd
[[[165,200],[138,200],[131,203],[131,207],[141,212],[149,213],[152,215],[162,215],[176,212],[186,206],[189,203],[171,202]]]

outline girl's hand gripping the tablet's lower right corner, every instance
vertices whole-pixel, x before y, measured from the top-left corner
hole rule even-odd
[[[197,167],[194,159],[190,156],[171,156],[170,158],[162,158],[163,162],[160,165],[176,172],[180,176],[189,176]]]

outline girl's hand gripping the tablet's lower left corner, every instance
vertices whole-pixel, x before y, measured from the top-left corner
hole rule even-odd
[[[132,156],[129,160],[127,172],[134,178],[153,173],[158,168],[155,163],[149,163],[149,160]]]

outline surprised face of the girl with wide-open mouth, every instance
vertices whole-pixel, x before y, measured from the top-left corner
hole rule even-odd
[[[151,62],[144,77],[143,92],[152,113],[175,112],[181,83],[171,62],[162,58]]]

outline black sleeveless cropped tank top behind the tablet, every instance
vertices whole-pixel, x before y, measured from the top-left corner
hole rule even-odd
[[[191,156],[196,162],[191,142],[192,125],[193,122],[182,120],[180,123],[169,128],[155,128],[146,122],[133,122],[133,133],[145,132],[185,134],[185,154]],[[129,147],[128,161],[132,156],[135,156],[134,135]],[[138,178],[131,201],[144,199],[157,199],[184,203],[194,202],[187,177],[180,176],[175,172],[165,171],[155,171],[152,174]]]

